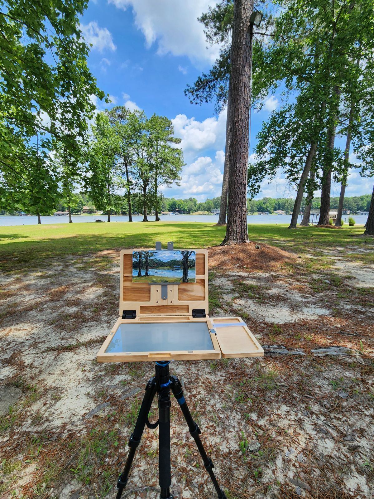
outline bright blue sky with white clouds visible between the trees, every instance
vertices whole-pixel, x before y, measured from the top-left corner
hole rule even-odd
[[[163,188],[166,197],[205,201],[220,195],[226,112],[214,113],[213,104],[190,104],[183,90],[201,71],[207,71],[218,47],[206,48],[197,16],[214,1],[91,0],[81,20],[81,30],[92,43],[89,66],[98,86],[110,94],[113,104],[144,109],[173,120],[175,135],[182,139],[186,166],[181,186]],[[260,112],[252,112],[251,151],[263,120],[279,106],[281,97],[268,96]],[[95,102],[97,109],[107,107]],[[344,147],[344,140],[339,141]],[[346,196],[371,193],[371,179],[351,172]],[[339,196],[340,186],[332,186]],[[318,195],[318,193],[317,193]],[[257,198],[294,197],[279,175],[265,181]]]

